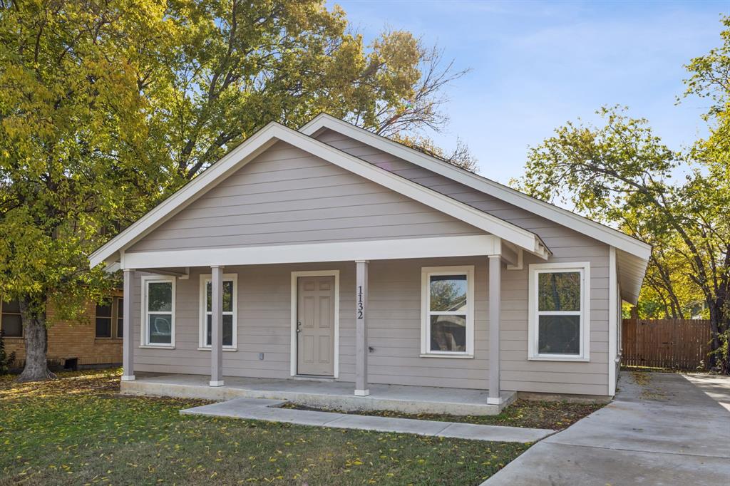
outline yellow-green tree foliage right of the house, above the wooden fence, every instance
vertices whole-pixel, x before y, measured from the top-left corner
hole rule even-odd
[[[707,139],[671,150],[648,120],[603,108],[601,126],[567,123],[532,149],[518,183],[652,244],[639,316],[709,317],[718,352],[730,338],[730,18],[723,24],[723,46],[687,66],[686,94],[713,102]]]

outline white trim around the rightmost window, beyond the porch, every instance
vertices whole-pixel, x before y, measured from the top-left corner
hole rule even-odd
[[[534,361],[583,361],[590,360],[591,350],[591,263],[532,263],[529,266],[528,298],[528,359]],[[539,326],[537,325],[537,274],[551,271],[579,271],[580,278],[580,352],[577,355],[541,355],[537,352]],[[555,312],[557,315],[569,312]]]

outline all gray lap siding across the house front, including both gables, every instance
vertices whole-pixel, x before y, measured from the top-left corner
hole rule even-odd
[[[527,359],[528,270],[502,270],[502,382],[504,390],[605,395],[608,379],[608,246],[479,193],[445,177],[337,134],[323,141],[539,234],[551,261],[591,262],[591,361]],[[210,236],[199,236],[210,233]],[[380,239],[478,230],[347,174],[293,147],[277,144],[210,190],[134,250]],[[420,268],[475,265],[475,358],[420,358]],[[238,274],[238,350],[223,353],[229,376],[287,378],[290,373],[291,271],[339,269],[339,379],[354,380],[353,262],[228,267]],[[199,275],[177,280],[174,350],[135,350],[139,371],[208,374],[210,352],[198,350]],[[369,268],[369,377],[373,383],[488,387],[486,258],[373,261]],[[134,328],[139,342],[139,276]],[[258,353],[264,352],[264,360]]]

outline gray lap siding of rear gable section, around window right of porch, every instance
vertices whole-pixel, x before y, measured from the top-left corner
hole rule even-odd
[[[609,247],[570,228],[553,223],[520,207],[480,193],[442,175],[393,157],[334,131],[318,139],[413,182],[534,231],[553,252],[551,262],[591,263],[591,361],[590,363],[529,361],[527,359],[527,287],[529,263],[541,263],[526,255],[521,271],[502,271],[502,388],[548,393],[608,393],[608,272]],[[478,339],[478,333],[477,333]]]

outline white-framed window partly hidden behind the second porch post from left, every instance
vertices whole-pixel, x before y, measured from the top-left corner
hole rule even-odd
[[[223,275],[223,347],[236,349],[238,304],[236,274]],[[212,282],[210,275],[200,276],[200,342],[201,348],[210,349],[212,326]]]

